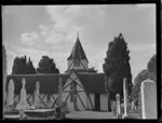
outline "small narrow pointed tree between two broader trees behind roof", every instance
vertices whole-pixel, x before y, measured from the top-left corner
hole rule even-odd
[[[36,68],[33,67],[30,58],[29,58],[28,63],[26,64],[26,67],[27,67],[27,74],[36,74]]]

